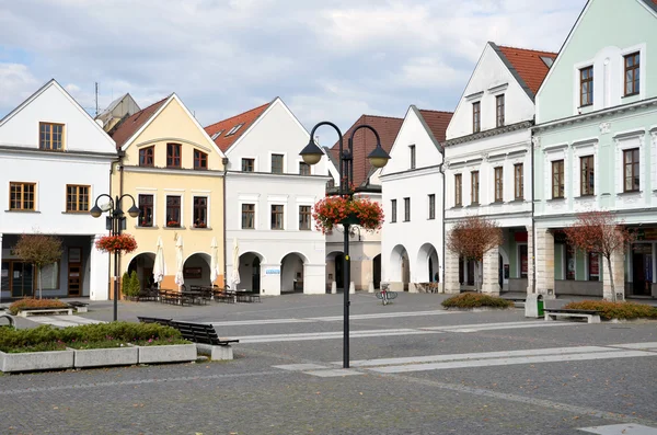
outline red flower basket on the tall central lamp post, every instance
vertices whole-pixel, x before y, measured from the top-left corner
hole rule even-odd
[[[312,218],[322,233],[336,225],[358,225],[368,231],[377,231],[383,225],[383,209],[369,198],[327,196],[314,205]]]

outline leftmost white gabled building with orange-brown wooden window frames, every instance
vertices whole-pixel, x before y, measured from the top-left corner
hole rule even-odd
[[[22,233],[55,234],[61,260],[43,270],[45,297],[107,299],[108,259],[94,247],[107,233],[89,215],[91,202],[110,192],[116,146],[55,80],[0,121],[0,249],[2,297],[33,295],[32,264],[12,247]]]

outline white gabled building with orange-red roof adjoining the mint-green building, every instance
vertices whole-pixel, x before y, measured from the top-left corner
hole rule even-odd
[[[531,126],[534,96],[556,54],[487,43],[447,129],[446,236],[468,216],[503,228],[483,267],[446,252],[446,291],[531,288]],[[475,279],[475,274],[480,279]]]

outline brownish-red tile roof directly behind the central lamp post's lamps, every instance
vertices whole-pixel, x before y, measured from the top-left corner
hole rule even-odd
[[[373,127],[381,138],[381,147],[390,152],[396,135],[402,128],[404,119],[393,118],[388,116],[362,115],[356,123],[344,134],[344,147],[348,147],[348,139],[351,131],[362,124]],[[368,175],[372,170],[367,156],[377,147],[377,138],[374,134],[367,128],[361,128],[354,136],[354,185],[360,186],[368,180]],[[336,142],[331,148],[333,161],[339,164],[339,142]]]

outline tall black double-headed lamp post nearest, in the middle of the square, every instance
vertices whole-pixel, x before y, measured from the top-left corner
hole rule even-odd
[[[359,125],[358,127],[351,130],[351,135],[349,135],[347,149],[344,149],[343,146],[343,135],[339,128],[333,123],[327,121],[323,121],[315,125],[310,133],[310,140],[306,148],[301,150],[299,153],[303,161],[308,164],[316,164],[324,156],[324,152],[318,147],[314,142],[313,137],[315,130],[323,126],[328,125],[337,131],[337,136],[339,137],[339,190],[338,194],[349,195],[351,197],[354,192],[351,191],[351,184],[354,182],[354,135],[361,128],[367,128],[374,134],[377,137],[377,148],[373,149],[372,152],[367,157],[370,161],[370,164],[374,168],[383,168],[388,160],[390,160],[390,156],[385,150],[381,147],[381,139],[379,138],[379,133],[371,126],[367,124]],[[344,320],[343,320],[343,368],[349,368],[349,286],[351,283],[351,263],[349,259],[349,224],[343,224],[345,229],[344,234]]]

